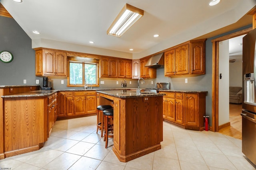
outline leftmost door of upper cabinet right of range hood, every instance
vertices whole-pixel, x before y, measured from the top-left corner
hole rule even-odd
[[[172,49],[164,53],[164,76],[175,74],[175,50]]]

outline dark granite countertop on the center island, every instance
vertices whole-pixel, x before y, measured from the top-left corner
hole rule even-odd
[[[106,94],[108,96],[113,96],[116,98],[134,98],[134,97],[145,97],[145,96],[164,96],[164,94],[159,93],[141,93],[136,94],[133,90],[97,90],[96,92],[101,94]]]

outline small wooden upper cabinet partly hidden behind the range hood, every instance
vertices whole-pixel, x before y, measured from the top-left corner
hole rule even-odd
[[[156,68],[145,67],[150,57],[140,59],[140,77],[156,78]]]

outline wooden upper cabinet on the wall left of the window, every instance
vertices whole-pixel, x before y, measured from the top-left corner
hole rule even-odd
[[[66,76],[67,56],[65,52],[37,48],[36,76]]]

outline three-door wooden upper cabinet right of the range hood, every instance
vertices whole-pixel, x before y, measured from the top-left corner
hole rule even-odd
[[[164,75],[205,74],[205,41],[188,41],[165,51]]]

